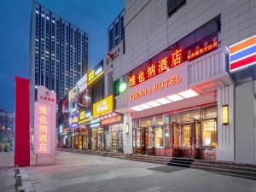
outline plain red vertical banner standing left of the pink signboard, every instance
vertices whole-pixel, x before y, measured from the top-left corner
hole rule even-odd
[[[30,166],[29,79],[15,76],[15,165]]]

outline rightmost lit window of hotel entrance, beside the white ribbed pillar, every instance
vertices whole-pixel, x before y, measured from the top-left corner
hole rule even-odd
[[[217,146],[217,125],[215,119],[202,121],[202,145],[205,148]]]

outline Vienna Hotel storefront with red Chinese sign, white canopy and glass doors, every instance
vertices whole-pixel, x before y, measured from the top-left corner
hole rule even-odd
[[[234,160],[234,85],[218,18],[132,69],[116,96],[125,153]]]

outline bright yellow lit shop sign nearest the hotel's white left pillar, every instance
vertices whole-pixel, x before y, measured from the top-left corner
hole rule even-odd
[[[108,96],[93,104],[93,116],[99,116],[113,111],[113,96]]]

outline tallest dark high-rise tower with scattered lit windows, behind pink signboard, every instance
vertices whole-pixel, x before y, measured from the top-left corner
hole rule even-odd
[[[89,37],[86,32],[37,2],[30,26],[30,79],[54,90],[57,100],[68,94],[87,72]]]

